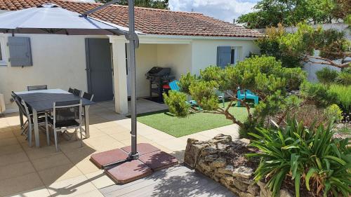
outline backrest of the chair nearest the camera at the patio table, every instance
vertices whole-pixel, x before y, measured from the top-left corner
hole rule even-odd
[[[81,100],[69,100],[53,103],[53,121],[70,121],[79,119],[81,123]]]

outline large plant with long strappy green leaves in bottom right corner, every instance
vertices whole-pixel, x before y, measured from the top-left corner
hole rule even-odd
[[[300,186],[315,196],[350,196],[351,151],[348,139],[332,139],[332,125],[324,128],[305,128],[295,118],[288,119],[285,128],[278,130],[258,129],[250,133],[252,147],[260,149],[261,158],[255,179],[268,179],[267,186],[277,196],[283,182],[295,185],[296,196]]]

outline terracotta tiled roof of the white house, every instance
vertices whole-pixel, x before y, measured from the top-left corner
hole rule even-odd
[[[65,0],[0,0],[0,9],[15,11],[51,2],[77,13],[100,4]],[[91,15],[94,18],[128,27],[128,7],[112,5]],[[135,29],[145,34],[184,36],[259,37],[262,34],[201,13],[135,7]]]

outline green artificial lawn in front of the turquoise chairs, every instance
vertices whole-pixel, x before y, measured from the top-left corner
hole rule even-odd
[[[227,107],[227,104],[229,103],[226,103],[225,107]],[[245,121],[247,117],[245,107],[234,107],[233,104],[233,107],[230,107],[229,111],[239,121]],[[138,121],[174,137],[182,137],[203,130],[232,124],[232,121],[227,120],[223,114],[196,112],[186,118],[178,118],[168,112],[168,110],[140,114],[138,115]]]

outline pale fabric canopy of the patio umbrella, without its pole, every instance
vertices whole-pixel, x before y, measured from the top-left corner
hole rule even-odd
[[[55,4],[0,14],[0,32],[15,34],[124,35],[128,28],[67,11]]]

